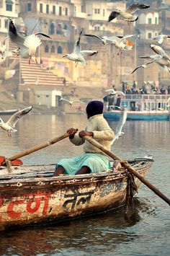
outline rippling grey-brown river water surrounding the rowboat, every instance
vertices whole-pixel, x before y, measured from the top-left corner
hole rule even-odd
[[[4,117],[6,120],[8,117]],[[117,122],[109,123],[115,131]],[[61,136],[70,127],[84,129],[86,115],[27,115],[9,138],[0,131],[0,154],[12,156]],[[170,198],[170,122],[127,121],[125,136],[112,145],[122,159],[151,154],[147,179]],[[66,138],[22,158],[24,164],[56,163],[81,154]],[[170,208],[145,185],[135,195],[135,209],[109,211],[62,224],[1,231],[0,255],[169,255]]]

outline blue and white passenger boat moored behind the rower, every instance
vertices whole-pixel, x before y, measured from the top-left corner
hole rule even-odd
[[[170,95],[166,94],[125,94],[121,107],[127,107],[127,120],[170,120]],[[104,118],[118,120],[122,110],[104,110]]]

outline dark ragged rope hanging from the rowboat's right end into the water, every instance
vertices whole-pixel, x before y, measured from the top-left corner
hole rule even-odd
[[[134,208],[133,195],[135,194],[135,192],[138,192],[138,189],[137,189],[137,185],[135,185],[134,175],[132,175],[127,170],[125,172],[126,172],[126,175],[128,176],[127,187],[126,187],[126,199],[125,199],[125,213],[127,213],[129,206],[132,206],[132,208]]]

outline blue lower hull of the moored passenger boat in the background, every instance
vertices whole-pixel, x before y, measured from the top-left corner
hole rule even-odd
[[[122,111],[104,111],[104,118],[107,120],[119,120]],[[149,111],[128,111],[127,120],[170,120],[169,111],[149,112]]]

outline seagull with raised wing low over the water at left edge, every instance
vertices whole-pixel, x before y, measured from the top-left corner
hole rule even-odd
[[[22,118],[24,115],[27,115],[32,110],[32,106],[26,107],[23,110],[19,110],[18,112],[14,113],[14,115],[9,118],[9,120],[4,123],[4,121],[0,118],[0,127],[7,131],[8,136],[12,137],[12,133],[15,133],[17,130],[14,129],[17,121],[19,118]]]

